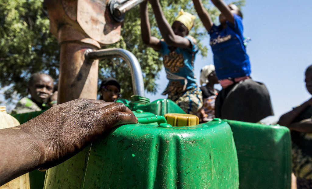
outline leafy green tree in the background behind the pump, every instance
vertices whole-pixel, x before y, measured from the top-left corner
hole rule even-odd
[[[43,0],[10,0],[0,1],[0,67],[2,74],[0,86],[10,86],[5,90],[7,100],[12,100],[14,92],[20,96],[27,95],[27,80],[31,73],[45,72],[57,79],[59,65],[59,47],[55,37],[49,32],[49,20],[42,7]],[[244,5],[244,0],[237,5]],[[217,17],[218,10],[209,0],[203,0],[212,19]],[[164,14],[169,23],[173,22],[180,8],[196,15],[191,0],[161,0]],[[162,68],[161,55],[152,48],[146,47],[140,36],[140,10],[134,7],[125,15],[121,39],[115,44],[106,46],[124,48],[132,52],[139,60],[147,92],[156,93],[155,80]],[[152,9],[149,9],[152,35],[160,37]],[[197,18],[190,35],[198,40],[203,56],[207,55],[208,44],[200,41],[207,35],[202,23]],[[133,94],[129,68],[119,58],[100,61],[99,83],[105,77],[115,77],[122,86],[122,97],[129,99]]]

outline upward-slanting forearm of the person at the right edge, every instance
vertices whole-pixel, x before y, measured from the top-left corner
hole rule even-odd
[[[309,106],[309,102],[306,101],[298,107],[295,107],[293,110],[285,113],[280,117],[280,120],[277,122],[279,125],[289,127],[289,125],[295,120],[295,118]]]

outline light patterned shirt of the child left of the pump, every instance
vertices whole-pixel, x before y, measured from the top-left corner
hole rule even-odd
[[[45,104],[42,104],[42,106],[46,107]],[[32,100],[30,100],[29,98],[24,97],[20,101],[17,102],[16,107],[14,108],[12,113],[18,114],[18,113],[28,113],[28,112],[36,112],[36,111],[41,111],[41,108],[37,106],[35,102],[32,102]]]

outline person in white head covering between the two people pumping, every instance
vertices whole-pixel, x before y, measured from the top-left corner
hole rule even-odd
[[[200,85],[202,87],[200,89],[202,90],[203,106],[197,114],[200,122],[211,121],[215,118],[214,104],[219,90],[215,89],[214,85],[218,83],[215,67],[212,64],[202,67],[200,71]]]

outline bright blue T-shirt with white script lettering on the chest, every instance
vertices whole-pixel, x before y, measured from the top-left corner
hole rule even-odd
[[[227,21],[227,27],[213,24],[210,45],[218,79],[244,77],[250,75],[250,62],[243,37],[242,19],[236,14],[234,25]]]

